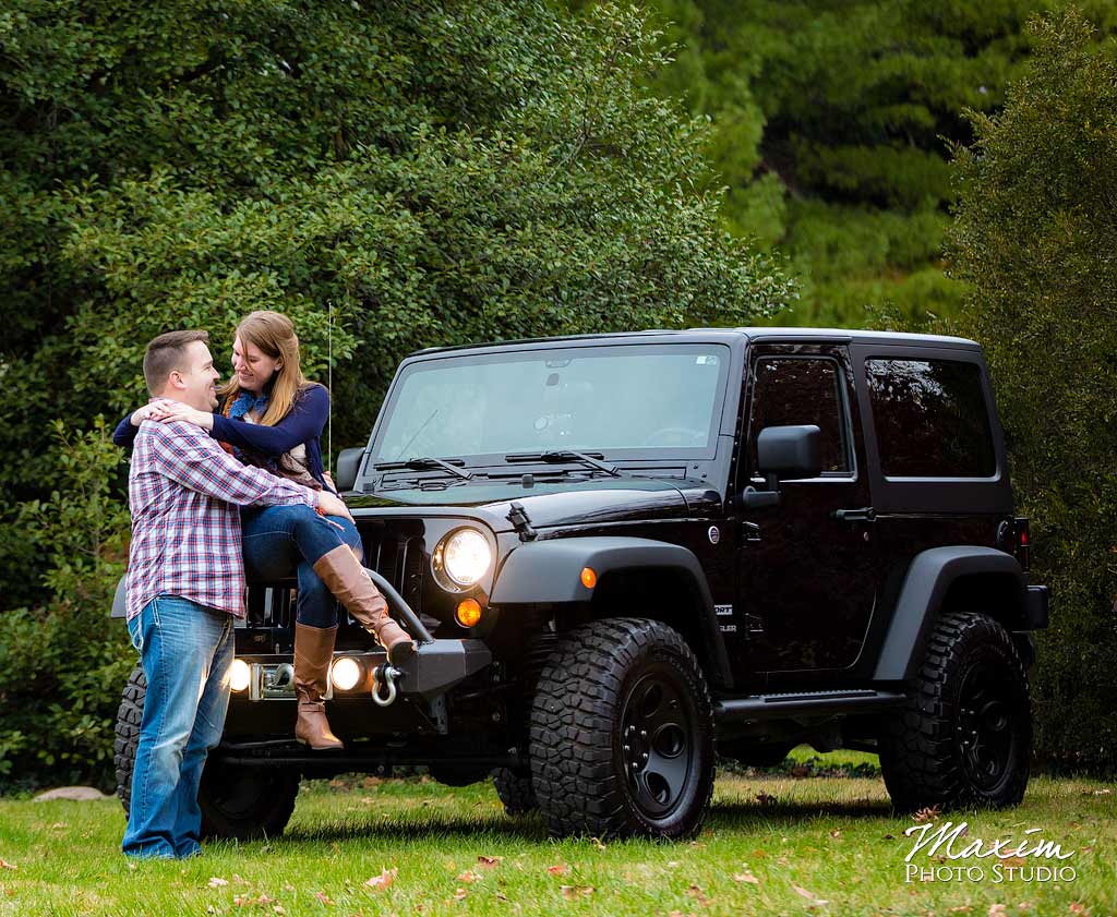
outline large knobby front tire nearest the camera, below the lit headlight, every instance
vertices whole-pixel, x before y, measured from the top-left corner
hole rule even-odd
[[[540,676],[529,754],[555,834],[697,833],[714,791],[714,722],[694,653],[658,621],[572,631]]]

